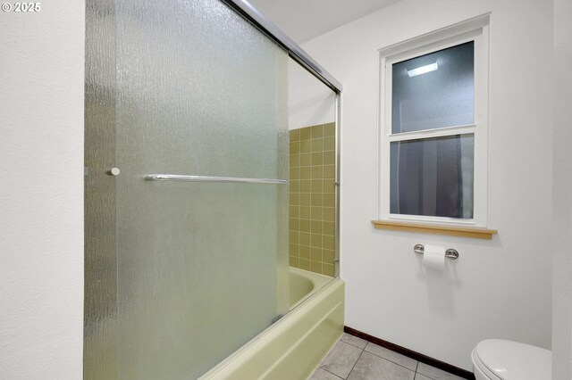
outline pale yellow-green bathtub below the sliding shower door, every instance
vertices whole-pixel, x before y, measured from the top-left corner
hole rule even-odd
[[[200,380],[305,380],[343,331],[340,278],[290,268],[290,312]]]

